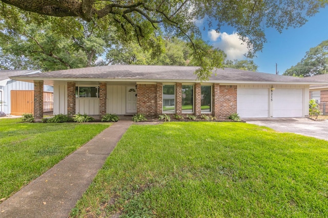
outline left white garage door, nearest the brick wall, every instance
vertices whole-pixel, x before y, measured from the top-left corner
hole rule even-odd
[[[237,113],[241,118],[269,117],[269,89],[237,89]]]

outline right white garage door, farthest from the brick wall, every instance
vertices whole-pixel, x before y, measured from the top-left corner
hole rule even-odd
[[[302,117],[302,89],[273,90],[273,117]]]

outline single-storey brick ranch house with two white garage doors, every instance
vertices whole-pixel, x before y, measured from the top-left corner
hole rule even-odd
[[[200,82],[198,67],[113,65],[36,73],[12,77],[54,86],[54,114],[103,116],[141,113],[201,114],[242,118],[305,117],[309,115],[309,87],[321,84],[291,76],[238,69],[218,69]],[[42,99],[34,92],[34,99]],[[185,103],[182,103],[185,102]],[[168,108],[169,107],[169,108]],[[34,117],[42,118],[34,102]]]

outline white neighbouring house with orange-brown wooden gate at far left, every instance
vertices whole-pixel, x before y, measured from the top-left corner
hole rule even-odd
[[[33,113],[34,84],[12,80],[9,77],[40,73],[35,70],[0,70],[0,111],[6,114],[22,115]],[[44,111],[53,111],[53,88],[44,87]]]

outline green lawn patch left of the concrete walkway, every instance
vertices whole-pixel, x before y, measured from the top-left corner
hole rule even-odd
[[[108,123],[17,123],[0,119],[0,199],[42,175]]]

